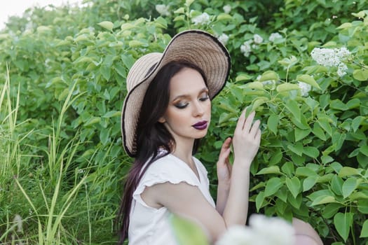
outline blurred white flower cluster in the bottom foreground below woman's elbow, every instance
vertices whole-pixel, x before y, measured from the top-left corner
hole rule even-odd
[[[233,226],[216,245],[292,245],[294,228],[281,218],[267,218],[260,214],[250,216],[250,226]]]

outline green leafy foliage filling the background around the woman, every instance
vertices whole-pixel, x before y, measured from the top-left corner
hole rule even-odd
[[[51,223],[44,217],[53,214],[48,207],[57,198],[55,214],[66,211],[55,228],[63,241],[114,241],[121,179],[131,162],[120,132],[128,70],[138,57],[163,50],[178,31],[204,29],[226,43],[233,61],[198,153],[212,194],[222,141],[250,106],[262,124],[250,213],[301,218],[326,244],[366,243],[368,10],[354,13],[362,7],[364,1],[350,0],[91,0],[81,9],[36,8],[11,19],[0,34],[0,74],[6,80],[8,64],[6,98],[19,98],[11,134],[22,139],[15,152],[24,160],[8,161],[15,167],[1,172],[6,181],[0,185],[9,191],[0,192],[0,240],[11,240],[10,217],[20,214],[29,227],[20,239],[40,241],[37,232],[47,233]],[[333,64],[311,55],[345,48]],[[2,106],[6,128],[11,111]],[[55,160],[58,165],[51,164]],[[63,161],[69,165],[60,167]],[[3,201],[9,198],[17,201]],[[29,214],[30,203],[37,214]]]

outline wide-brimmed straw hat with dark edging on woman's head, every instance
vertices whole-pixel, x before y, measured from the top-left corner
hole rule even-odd
[[[136,130],[144,94],[158,71],[173,61],[189,62],[202,69],[211,99],[224,87],[231,64],[224,45],[200,30],[182,31],[172,38],[163,53],[152,52],[137,59],[126,78],[128,94],[121,113],[123,146],[130,157],[137,153]]]

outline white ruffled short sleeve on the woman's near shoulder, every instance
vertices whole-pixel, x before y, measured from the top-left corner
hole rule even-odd
[[[196,175],[184,162],[180,162],[172,155],[165,155],[153,162],[144,173],[137,189],[133,193],[133,199],[144,207],[149,207],[141,197],[144,188],[154,186],[158,183],[170,182],[173,184],[185,182],[191,186],[199,186]]]

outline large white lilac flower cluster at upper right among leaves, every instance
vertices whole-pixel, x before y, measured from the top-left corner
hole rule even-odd
[[[313,48],[312,58],[322,66],[333,66],[337,68],[337,75],[343,76],[348,70],[348,66],[343,63],[343,59],[350,56],[347,48]]]

